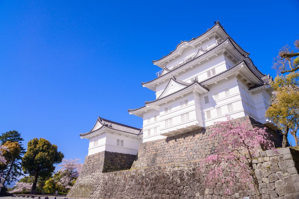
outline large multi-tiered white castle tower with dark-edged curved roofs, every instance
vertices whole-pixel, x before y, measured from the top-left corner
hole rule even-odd
[[[141,84],[156,93],[156,100],[128,110],[143,118],[143,142],[206,127],[226,115],[249,115],[277,129],[265,118],[272,78],[257,69],[219,21],[152,63],[162,70]]]

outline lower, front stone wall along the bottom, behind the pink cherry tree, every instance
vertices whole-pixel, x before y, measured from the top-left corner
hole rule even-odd
[[[170,163],[102,173],[101,154],[86,158],[79,178],[67,197],[75,198],[169,198],[169,199],[224,199],[256,198],[248,184],[235,183],[234,195],[225,195],[225,184],[217,183],[213,189],[205,187],[199,161]],[[260,192],[266,199],[298,199],[299,152],[284,148],[260,152],[254,159]]]

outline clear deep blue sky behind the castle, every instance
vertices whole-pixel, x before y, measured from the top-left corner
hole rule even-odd
[[[299,35],[298,1],[0,1],[0,132],[45,138],[65,158],[87,155],[100,115],[142,127],[127,113],[155,98],[140,83],[167,55],[217,19],[264,73]]]

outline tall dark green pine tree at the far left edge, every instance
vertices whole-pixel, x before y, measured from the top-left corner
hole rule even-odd
[[[16,153],[10,153],[10,155],[12,156],[9,158],[10,160],[7,160],[6,167],[1,168],[2,175],[4,176],[4,178],[1,179],[1,182],[3,184],[5,182],[7,184],[10,184],[11,182],[16,181],[21,175],[23,175],[21,160],[22,155],[24,155],[25,153],[25,149],[22,145],[22,141],[24,141],[24,139],[21,137],[21,134],[18,131],[13,130],[2,133],[2,135],[0,135],[0,142],[2,145],[4,145],[8,141],[11,143],[17,142],[19,144],[20,151],[18,155],[16,155]],[[17,147],[15,149],[17,151],[19,150],[17,149]],[[16,150],[14,150],[14,152],[16,152]]]

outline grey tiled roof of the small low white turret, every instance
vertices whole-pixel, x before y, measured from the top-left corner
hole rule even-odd
[[[97,122],[99,122],[102,126],[98,129],[95,129],[95,130],[92,131],[92,129],[97,124]],[[117,131],[121,131],[121,132],[126,132],[126,133],[131,133],[131,134],[134,134],[134,135],[141,135],[142,134],[141,133],[142,129],[138,129],[138,128],[131,127],[131,126],[128,126],[128,125],[125,125],[125,124],[120,124],[120,123],[117,123],[117,122],[114,122],[114,121],[106,120],[104,118],[98,117],[97,122],[94,125],[94,127],[91,129],[90,132],[81,133],[80,136],[88,135],[92,132],[95,132],[95,131],[101,129],[102,127],[107,127],[109,129],[113,129],[113,130],[117,130]]]

